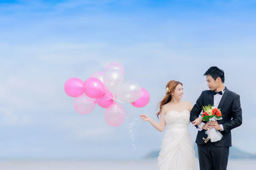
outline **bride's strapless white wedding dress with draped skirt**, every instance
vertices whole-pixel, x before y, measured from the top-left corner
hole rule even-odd
[[[169,111],[165,122],[167,130],[158,157],[159,170],[195,170],[194,144],[188,131],[189,111]]]

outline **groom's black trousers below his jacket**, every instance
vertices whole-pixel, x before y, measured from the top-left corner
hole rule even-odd
[[[200,170],[226,170],[229,147],[215,146],[211,141],[197,145]]]

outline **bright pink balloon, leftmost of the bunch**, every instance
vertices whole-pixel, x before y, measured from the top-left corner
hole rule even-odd
[[[77,97],[83,94],[83,81],[79,78],[70,78],[65,82],[64,90],[70,97]]]

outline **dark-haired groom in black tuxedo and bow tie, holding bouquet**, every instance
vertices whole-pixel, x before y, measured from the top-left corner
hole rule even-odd
[[[242,124],[242,110],[240,97],[230,91],[223,84],[225,81],[224,71],[218,67],[210,67],[205,73],[207,85],[210,90],[202,92],[196,104],[190,112],[190,121],[196,125],[198,134],[196,144],[198,146],[198,158],[201,170],[227,169],[229,147],[231,146],[231,130]],[[199,115],[203,106],[211,104],[219,108],[222,120],[215,122],[202,122],[198,124]],[[223,137],[220,141],[205,143],[207,138],[205,131],[214,128],[220,131]]]

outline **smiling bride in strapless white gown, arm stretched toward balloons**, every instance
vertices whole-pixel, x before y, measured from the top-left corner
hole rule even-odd
[[[166,95],[160,104],[160,122],[155,122],[148,115],[140,115],[143,121],[150,122],[158,131],[167,130],[162,139],[161,151],[158,157],[159,170],[195,170],[196,159],[193,141],[188,131],[189,112],[193,108],[189,101],[180,101],[183,96],[182,83],[169,81],[166,85]],[[197,118],[193,125],[202,122]]]

